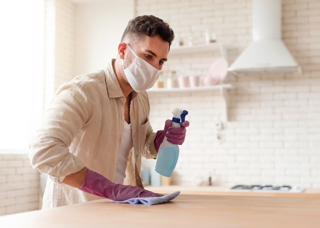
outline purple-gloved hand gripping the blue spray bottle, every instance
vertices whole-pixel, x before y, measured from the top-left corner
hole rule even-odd
[[[154,139],[155,149],[159,150],[159,146],[164,141],[165,136],[167,137],[167,141],[172,144],[181,145],[184,143],[186,138],[186,127],[189,127],[189,121],[184,121],[181,123],[181,127],[172,127],[172,121],[166,120],[165,128],[163,130],[159,130],[156,132],[156,136]]]

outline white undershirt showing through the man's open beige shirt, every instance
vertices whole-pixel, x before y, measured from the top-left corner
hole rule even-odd
[[[128,162],[129,151],[133,147],[132,135],[131,135],[131,124],[124,121],[124,130],[122,136],[122,144],[120,146],[118,163],[115,174],[115,183],[123,184],[123,180],[126,177],[126,168]]]

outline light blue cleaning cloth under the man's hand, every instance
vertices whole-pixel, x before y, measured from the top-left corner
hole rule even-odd
[[[113,202],[131,203],[131,204],[143,203],[143,204],[150,206],[150,205],[154,205],[154,204],[169,202],[170,200],[177,197],[179,194],[180,194],[180,191],[176,191],[176,192],[170,193],[168,195],[159,196],[159,197],[137,197],[137,198],[127,199],[124,201],[113,201]]]

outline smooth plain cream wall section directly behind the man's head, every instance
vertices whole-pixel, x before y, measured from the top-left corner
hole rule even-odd
[[[79,75],[102,69],[107,61],[117,57],[123,30],[134,16],[134,1],[72,1],[78,3],[75,11],[74,74]]]

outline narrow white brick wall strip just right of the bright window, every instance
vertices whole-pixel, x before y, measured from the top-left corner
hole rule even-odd
[[[53,94],[74,75],[76,5],[65,0],[45,0],[44,107]]]

